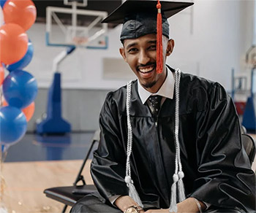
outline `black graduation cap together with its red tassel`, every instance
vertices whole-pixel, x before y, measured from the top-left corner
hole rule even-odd
[[[157,72],[163,68],[162,35],[169,37],[167,18],[175,15],[192,2],[127,0],[102,23],[123,23],[120,39],[136,39],[146,34],[157,34]]]

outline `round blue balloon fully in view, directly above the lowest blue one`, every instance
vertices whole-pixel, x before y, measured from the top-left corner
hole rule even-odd
[[[4,99],[12,107],[28,107],[37,97],[37,80],[27,71],[15,70],[3,82]]]

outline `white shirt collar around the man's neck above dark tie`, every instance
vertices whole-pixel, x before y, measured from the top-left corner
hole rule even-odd
[[[140,100],[143,104],[147,101],[149,96],[163,96],[165,98],[173,99],[173,90],[174,90],[174,77],[173,72],[170,71],[167,68],[167,77],[165,79],[165,82],[162,84],[161,88],[157,91],[157,93],[150,93],[148,90],[143,88],[142,85],[140,85],[140,81],[138,80],[138,93],[140,96]]]

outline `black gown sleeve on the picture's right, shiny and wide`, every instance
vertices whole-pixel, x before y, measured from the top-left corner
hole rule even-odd
[[[238,115],[225,89],[214,83],[205,110],[197,112],[197,174],[191,197],[255,212],[255,174],[241,143]]]

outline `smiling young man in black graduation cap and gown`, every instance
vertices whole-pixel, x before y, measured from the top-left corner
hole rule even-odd
[[[91,163],[99,193],[71,212],[255,212],[255,174],[230,96],[160,64],[174,47],[167,18],[191,4],[161,3],[127,0],[105,19],[123,23],[120,53],[138,80],[108,94]]]

